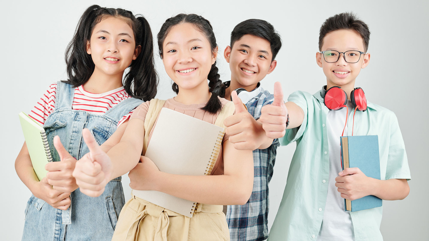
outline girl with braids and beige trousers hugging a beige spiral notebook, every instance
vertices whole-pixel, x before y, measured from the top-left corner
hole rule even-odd
[[[216,67],[218,46],[207,20],[195,14],[167,19],[158,33],[158,48],[177,93],[166,100],[163,107],[211,124],[223,113],[221,110],[234,108],[222,98],[224,85]],[[244,108],[236,93],[233,97],[235,109]],[[121,141],[107,154],[91,133],[84,130],[90,152],[76,164],[73,173],[76,183],[89,196],[99,196],[112,178],[130,171],[130,186],[135,190],[157,190],[202,203],[192,217],[185,217],[132,195],[121,211],[112,240],[230,240],[222,205],[242,205],[249,199],[254,174],[252,152],[236,150],[225,135],[210,176],[160,172],[150,159],[141,156],[147,144],[145,120],[152,119],[149,110],[154,103],[154,100],[147,101],[136,108]],[[166,146],[166,151],[168,148]]]

